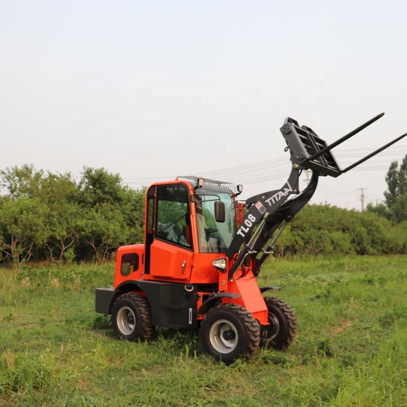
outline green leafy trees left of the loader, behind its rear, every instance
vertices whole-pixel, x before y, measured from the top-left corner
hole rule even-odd
[[[0,261],[105,263],[123,244],[142,243],[145,190],[119,174],[84,167],[53,174],[33,165],[0,171]]]

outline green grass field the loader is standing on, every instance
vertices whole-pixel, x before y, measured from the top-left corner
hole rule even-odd
[[[113,266],[0,270],[0,406],[405,406],[407,258],[271,261],[296,311],[285,352],[225,366],[196,332],[113,336],[94,288]]]

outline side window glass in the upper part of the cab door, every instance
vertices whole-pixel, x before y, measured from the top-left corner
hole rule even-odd
[[[188,196],[184,185],[157,187],[157,238],[191,247]]]

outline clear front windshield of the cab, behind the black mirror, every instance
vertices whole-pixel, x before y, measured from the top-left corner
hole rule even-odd
[[[216,222],[215,202],[225,204],[225,221]],[[195,195],[196,223],[199,251],[201,253],[224,253],[236,232],[235,199],[227,193]]]

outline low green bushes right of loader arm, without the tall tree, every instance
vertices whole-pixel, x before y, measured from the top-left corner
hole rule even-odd
[[[394,223],[371,211],[306,205],[274,247],[276,256],[402,254],[407,252],[407,221]]]

